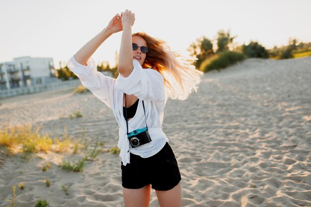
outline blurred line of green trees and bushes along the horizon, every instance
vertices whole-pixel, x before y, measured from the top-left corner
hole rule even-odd
[[[286,46],[267,50],[257,41],[250,41],[247,45],[236,45],[230,30],[219,30],[215,39],[206,36],[197,38],[187,48],[192,57],[197,59],[194,66],[204,72],[211,69],[226,68],[245,58],[272,58],[287,59],[293,58],[294,54],[304,53],[304,56],[311,55],[311,43],[298,42],[296,38],[290,38]],[[302,56],[301,56],[302,57]],[[97,71],[109,71],[114,78],[118,76],[118,52],[115,51],[115,65],[110,66],[108,61],[97,65]],[[56,76],[62,80],[77,79],[78,77],[67,67],[56,70]]]

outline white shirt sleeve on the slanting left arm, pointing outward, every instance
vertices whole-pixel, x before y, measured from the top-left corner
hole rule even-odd
[[[83,66],[73,56],[68,61],[67,67],[78,76],[84,87],[112,109],[111,100],[115,79],[97,71],[94,59],[89,58],[87,66]]]

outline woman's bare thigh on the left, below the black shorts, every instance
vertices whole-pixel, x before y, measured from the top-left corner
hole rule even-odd
[[[151,185],[140,189],[123,188],[125,207],[149,207]]]

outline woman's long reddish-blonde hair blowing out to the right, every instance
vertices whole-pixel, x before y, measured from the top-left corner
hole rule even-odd
[[[172,52],[165,41],[145,32],[137,32],[132,36],[140,36],[147,42],[149,52],[142,67],[161,73],[167,98],[185,100],[192,91],[197,92],[203,72],[192,65],[196,59]]]

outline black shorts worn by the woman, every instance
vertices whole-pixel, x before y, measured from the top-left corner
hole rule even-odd
[[[151,157],[142,158],[130,153],[130,162],[124,166],[121,161],[124,188],[139,189],[151,184],[155,190],[167,191],[181,180],[177,160],[168,142]]]

